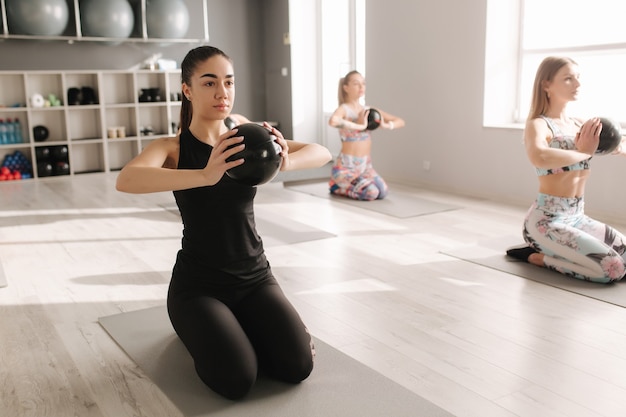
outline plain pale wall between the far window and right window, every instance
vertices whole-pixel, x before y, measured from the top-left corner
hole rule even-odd
[[[388,180],[529,206],[537,179],[521,130],[483,127],[486,15],[487,0],[367,1],[367,102],[407,122],[374,132],[374,166]],[[626,223],[626,159],[592,165],[587,212]]]

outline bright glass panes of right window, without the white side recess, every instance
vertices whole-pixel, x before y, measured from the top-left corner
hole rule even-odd
[[[572,103],[576,114],[625,119],[625,13],[626,2],[615,0],[596,0],[593,5],[586,0],[523,0],[520,109],[530,105],[541,60],[562,55],[580,66],[580,96]]]

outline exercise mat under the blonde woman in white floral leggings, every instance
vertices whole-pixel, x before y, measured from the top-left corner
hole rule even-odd
[[[626,282],[599,284],[568,277],[558,272],[541,268],[506,255],[506,250],[523,244],[521,236],[505,236],[464,246],[442,253],[455,258],[482,265],[487,268],[508,272],[522,278],[540,282],[596,300],[626,307]]]

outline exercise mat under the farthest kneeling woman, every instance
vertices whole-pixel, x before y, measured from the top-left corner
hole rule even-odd
[[[328,181],[312,183],[286,183],[285,188],[315,197],[331,199],[332,201],[337,201],[342,204],[372,210],[401,219],[423,216],[425,214],[440,213],[460,208],[459,206],[431,201],[416,196],[414,193],[396,190],[393,188],[390,188],[387,197],[382,200],[374,201],[353,200],[351,198],[333,195],[328,190]]]

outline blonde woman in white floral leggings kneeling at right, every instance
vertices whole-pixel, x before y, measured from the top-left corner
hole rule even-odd
[[[626,272],[626,236],[584,213],[585,183],[598,148],[599,118],[567,115],[577,99],[578,66],[548,57],[537,70],[524,143],[539,177],[539,194],[524,221],[525,247],[507,254],[574,278],[608,283]],[[626,156],[624,140],[613,152]]]

